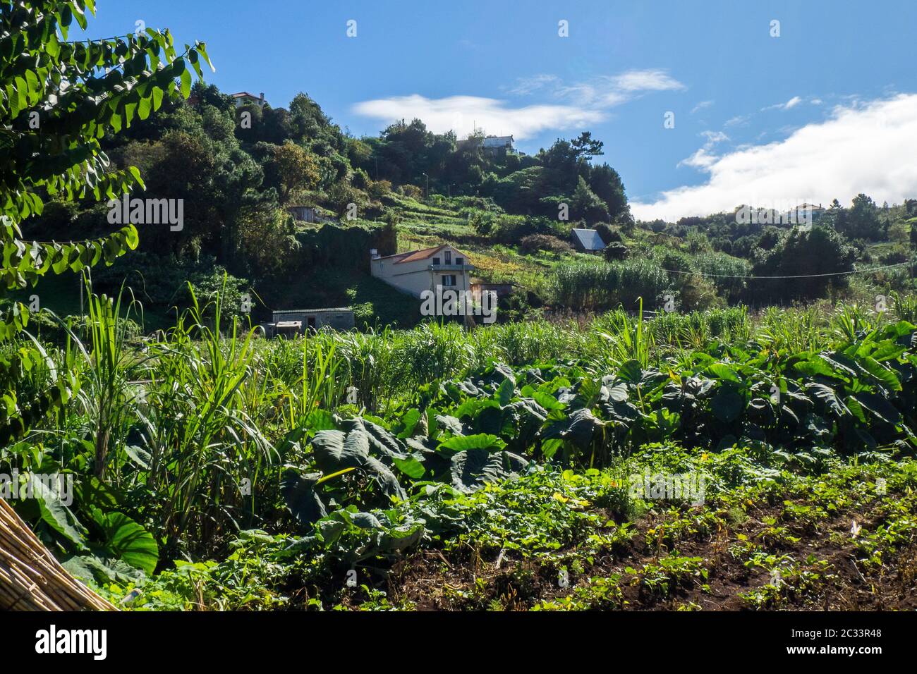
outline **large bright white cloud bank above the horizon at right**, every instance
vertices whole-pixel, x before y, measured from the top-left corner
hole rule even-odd
[[[917,196],[917,94],[834,108],[831,118],[789,138],[714,158],[702,185],[631,204],[634,215],[676,220],[731,211],[740,204],[847,204],[867,193],[879,204]]]

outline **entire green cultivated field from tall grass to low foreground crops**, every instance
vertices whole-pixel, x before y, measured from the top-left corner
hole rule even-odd
[[[855,602],[801,541],[849,548],[857,584],[913,554],[917,327],[894,315],[619,311],[265,341],[226,325],[218,296],[157,338],[117,318],[134,303],[90,307],[26,376],[80,388],[0,464],[72,478],[72,503],[17,511],[122,607],[411,608],[440,576],[449,608]],[[804,350],[794,325],[812,326]],[[687,474],[700,502],[653,491]]]

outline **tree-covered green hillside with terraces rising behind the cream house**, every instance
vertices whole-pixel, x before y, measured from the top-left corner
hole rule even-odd
[[[305,94],[289,108],[237,108],[214,86],[195,84],[187,101],[106,141],[117,166],[144,175],[135,195],[181,199],[183,222],[176,231],[140,226],[138,252],[97,270],[94,282],[108,293],[127,282],[149,329],[189,304],[188,282],[212,296],[224,278],[226,309],[236,312],[249,294],[255,320],[273,309],[352,305],[359,326],[412,326],[416,303],[370,281],[369,249],[441,243],[470,255],[476,277],[515,284],[500,320],[545,308],[634,311],[641,300],[679,311],[820,298],[875,304],[914,287],[917,201],[835,201],[812,232],[765,224],[769,215],[743,222],[740,204],[734,213],[635,222],[590,132],[534,156],[484,149],[483,139],[436,135],[420,120],[354,138]],[[293,205],[318,208],[330,224],[295,220]],[[103,204],[51,200],[24,227],[45,238],[91,237],[111,227],[108,217]],[[574,252],[572,227],[597,228],[610,246]],[[67,314],[79,304],[74,293],[66,286],[43,301]]]

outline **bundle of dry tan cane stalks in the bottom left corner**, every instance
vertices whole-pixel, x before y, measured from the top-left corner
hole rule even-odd
[[[117,611],[54,558],[0,498],[0,610]]]

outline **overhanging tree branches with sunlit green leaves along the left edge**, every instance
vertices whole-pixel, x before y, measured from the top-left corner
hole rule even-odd
[[[110,265],[137,248],[132,225],[66,242],[24,240],[19,226],[48,199],[102,201],[142,189],[137,168],[114,170],[100,139],[146,119],[167,97],[186,98],[192,69],[203,78],[202,61],[213,69],[203,42],[179,53],[168,29],[68,41],[74,22],[85,30],[94,14],[94,0],[0,0],[0,299],[47,273]],[[28,315],[27,306],[12,303],[0,315],[0,342],[23,333]],[[37,341],[27,342],[0,360],[0,445],[25,435],[79,387]],[[38,359],[49,364],[54,388],[27,405],[17,399],[17,381]]]

